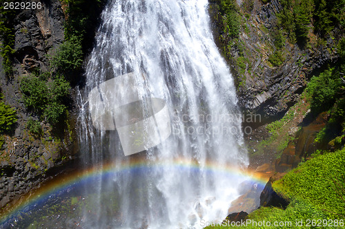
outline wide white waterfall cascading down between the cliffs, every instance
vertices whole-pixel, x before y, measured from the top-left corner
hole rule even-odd
[[[79,101],[81,153],[86,164],[132,169],[95,179],[97,212],[84,226],[202,228],[201,220],[224,219],[241,180],[219,171],[239,170],[247,160],[233,78],[213,41],[207,0],[112,0],[102,20]],[[172,135],[126,157],[117,131],[92,127],[86,100],[101,83],[130,72],[138,82],[144,77],[142,98],[166,101]]]

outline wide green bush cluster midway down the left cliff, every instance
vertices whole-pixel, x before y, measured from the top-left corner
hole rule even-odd
[[[66,112],[69,91],[70,84],[61,76],[50,82],[37,76],[26,76],[21,80],[24,104],[43,115],[50,124],[57,124]]]

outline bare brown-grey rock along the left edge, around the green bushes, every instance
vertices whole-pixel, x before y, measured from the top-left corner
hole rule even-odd
[[[30,114],[23,105],[20,78],[30,74],[32,69],[48,71],[47,55],[63,42],[64,14],[60,1],[42,1],[42,7],[41,10],[18,11],[14,19],[14,76],[6,77],[0,67],[3,100],[17,110],[18,118],[14,133],[4,135],[6,144],[1,149],[1,210],[56,175],[56,168],[71,160],[76,149],[75,142],[70,140],[74,129],[63,130],[64,137],[58,140],[50,134],[51,127],[44,121],[41,122],[43,135],[39,138],[26,128]]]

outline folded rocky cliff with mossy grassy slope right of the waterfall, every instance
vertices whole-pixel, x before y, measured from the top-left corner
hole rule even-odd
[[[334,29],[327,36],[321,36],[313,27],[317,20],[309,19],[305,22],[305,41],[299,42],[295,39],[296,29],[287,31],[284,28],[282,15],[286,11],[295,12],[302,5],[288,8],[282,5],[286,2],[290,1],[242,0],[236,3],[210,0],[215,41],[235,76],[239,106],[246,114],[243,126],[250,127],[245,137],[253,168],[272,163],[274,169],[276,158],[288,142],[296,138],[302,126],[308,124],[305,117],[311,109],[305,94],[302,95],[308,81],[329,65],[339,62],[336,47],[344,36],[342,26],[330,26]],[[304,7],[317,11],[316,6]],[[297,21],[295,27],[298,27]],[[258,116],[250,118],[252,114]],[[280,120],[283,116],[284,119]],[[275,120],[278,121],[268,125]],[[313,132],[313,138],[317,131]],[[309,141],[313,143],[312,138]],[[301,140],[295,142],[305,144]],[[290,142],[289,146],[295,149],[293,144]],[[286,149],[277,166],[288,164],[288,152],[291,153]],[[299,154],[301,156],[286,168],[292,164],[297,166],[305,156]]]

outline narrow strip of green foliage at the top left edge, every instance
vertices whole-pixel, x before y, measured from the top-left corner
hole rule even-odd
[[[1,57],[3,58],[3,70],[6,75],[12,74],[12,54],[14,53],[14,10],[4,10],[5,0],[0,0],[0,39]]]

